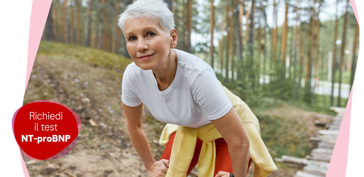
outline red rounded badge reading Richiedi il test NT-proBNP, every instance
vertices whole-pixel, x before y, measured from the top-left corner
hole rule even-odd
[[[53,160],[75,146],[81,120],[68,106],[52,100],[36,100],[15,111],[13,134],[23,155],[30,160]]]

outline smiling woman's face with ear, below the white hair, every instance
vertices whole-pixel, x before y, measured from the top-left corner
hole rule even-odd
[[[125,22],[128,53],[134,63],[143,70],[155,69],[166,63],[173,48],[172,35],[166,33],[157,19],[146,17]]]

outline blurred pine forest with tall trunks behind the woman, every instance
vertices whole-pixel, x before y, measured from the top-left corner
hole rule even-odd
[[[132,0],[53,0],[42,40],[130,58],[116,25]],[[359,53],[349,0],[165,0],[177,49],[209,63],[250,106],[345,107]]]

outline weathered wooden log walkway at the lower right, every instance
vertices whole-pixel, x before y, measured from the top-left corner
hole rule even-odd
[[[321,120],[327,119],[325,122],[316,120],[316,126],[323,126],[326,129],[322,129],[316,132],[315,137],[310,137],[310,141],[313,145],[310,156],[306,156],[306,159],[282,156],[282,159],[276,159],[277,161],[293,162],[305,165],[303,171],[298,171],[294,177],[325,177],[327,169],[329,168],[329,162],[335,146],[337,135],[341,121],[344,117],[345,108],[330,107],[331,110],[337,112],[335,117],[327,115],[317,115],[317,118]]]

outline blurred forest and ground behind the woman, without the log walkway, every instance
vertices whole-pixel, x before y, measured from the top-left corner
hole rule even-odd
[[[302,164],[275,158],[312,157],[312,137],[328,129],[317,121],[333,121],[330,107],[346,106],[355,78],[359,26],[349,1],[165,1],[174,13],[177,49],[209,63],[257,115],[278,166],[271,176],[297,175]],[[23,104],[66,104],[80,116],[82,129],[68,155],[24,158],[31,176],[148,176],[128,139],[121,106],[122,75],[132,60],[116,24],[132,2],[52,1]],[[144,107],[143,129],[157,160],[164,125]]]

